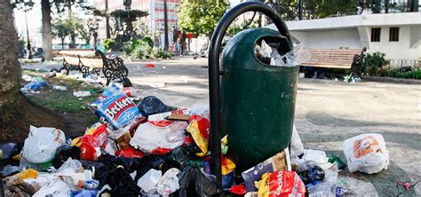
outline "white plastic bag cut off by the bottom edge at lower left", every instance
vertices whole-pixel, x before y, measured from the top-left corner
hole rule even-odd
[[[66,183],[61,180],[54,180],[47,185],[41,187],[38,192],[34,193],[34,197],[68,197],[70,194],[70,188]]]

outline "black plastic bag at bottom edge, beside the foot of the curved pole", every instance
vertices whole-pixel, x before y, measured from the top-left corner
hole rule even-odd
[[[206,177],[197,167],[186,166],[179,174],[179,196],[211,196],[222,192],[215,177]],[[212,180],[213,179],[213,180]]]

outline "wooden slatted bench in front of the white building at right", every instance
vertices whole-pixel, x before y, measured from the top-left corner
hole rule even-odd
[[[361,75],[364,49],[309,49],[311,57],[300,63],[303,67],[326,67],[351,69],[354,75]]]

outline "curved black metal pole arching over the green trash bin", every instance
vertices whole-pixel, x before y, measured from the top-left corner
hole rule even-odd
[[[292,42],[290,32],[287,25],[282,20],[281,15],[273,8],[266,4],[258,2],[245,2],[236,5],[234,8],[226,12],[221,20],[219,20],[217,28],[213,32],[211,38],[211,46],[209,51],[209,95],[210,95],[210,112],[211,112],[211,174],[217,177],[217,184],[222,188],[221,173],[221,128],[220,128],[220,87],[219,87],[219,53],[221,52],[222,39],[229,25],[244,12],[261,12],[269,17],[281,35],[287,37],[292,50]]]

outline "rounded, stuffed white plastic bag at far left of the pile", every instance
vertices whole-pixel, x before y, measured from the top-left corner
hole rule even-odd
[[[28,162],[43,163],[54,159],[59,146],[66,141],[64,132],[55,128],[30,126],[28,138],[22,149],[22,157]]]

